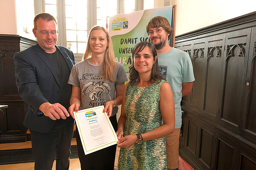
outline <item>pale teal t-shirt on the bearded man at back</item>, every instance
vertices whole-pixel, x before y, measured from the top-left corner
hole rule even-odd
[[[172,48],[165,54],[157,54],[160,73],[172,87],[175,101],[175,129],[181,127],[182,83],[195,81],[193,66],[189,54]]]

